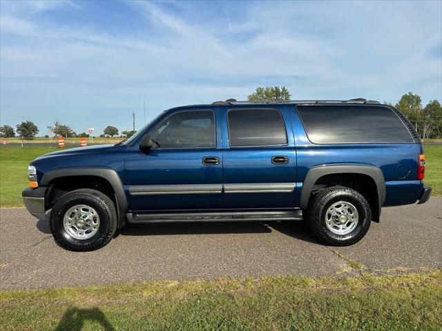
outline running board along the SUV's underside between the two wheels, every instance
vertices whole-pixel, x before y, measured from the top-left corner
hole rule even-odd
[[[302,210],[274,212],[180,212],[126,213],[127,223],[211,222],[211,221],[301,221]]]

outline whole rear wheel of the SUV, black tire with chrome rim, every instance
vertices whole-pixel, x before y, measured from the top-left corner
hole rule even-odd
[[[372,221],[369,203],[352,188],[325,188],[312,197],[307,210],[311,231],[328,245],[352,245],[367,233]]]

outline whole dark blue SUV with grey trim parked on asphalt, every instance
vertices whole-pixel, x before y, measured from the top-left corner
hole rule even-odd
[[[22,195],[68,250],[164,221],[304,219],[323,243],[350,245],[382,206],[427,201],[424,170],[419,135],[391,106],[229,99],[166,110],[115,145],[43,155]]]

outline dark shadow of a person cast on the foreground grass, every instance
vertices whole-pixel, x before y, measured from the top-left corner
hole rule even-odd
[[[100,328],[100,330],[115,330],[99,308],[95,307],[89,309],[79,309],[75,306],[71,306],[66,310],[66,312],[64,312],[64,315],[61,317],[55,331],[79,331],[83,328],[84,321],[97,321],[97,323],[102,325],[102,329]]]

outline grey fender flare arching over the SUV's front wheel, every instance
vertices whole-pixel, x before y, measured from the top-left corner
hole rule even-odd
[[[75,176],[96,176],[102,177],[108,181],[113,191],[115,192],[115,201],[118,215],[118,228],[126,223],[126,211],[128,203],[124,187],[117,172],[109,168],[63,168],[46,172],[41,178],[41,185],[49,185],[50,181],[61,177],[75,177]]]

